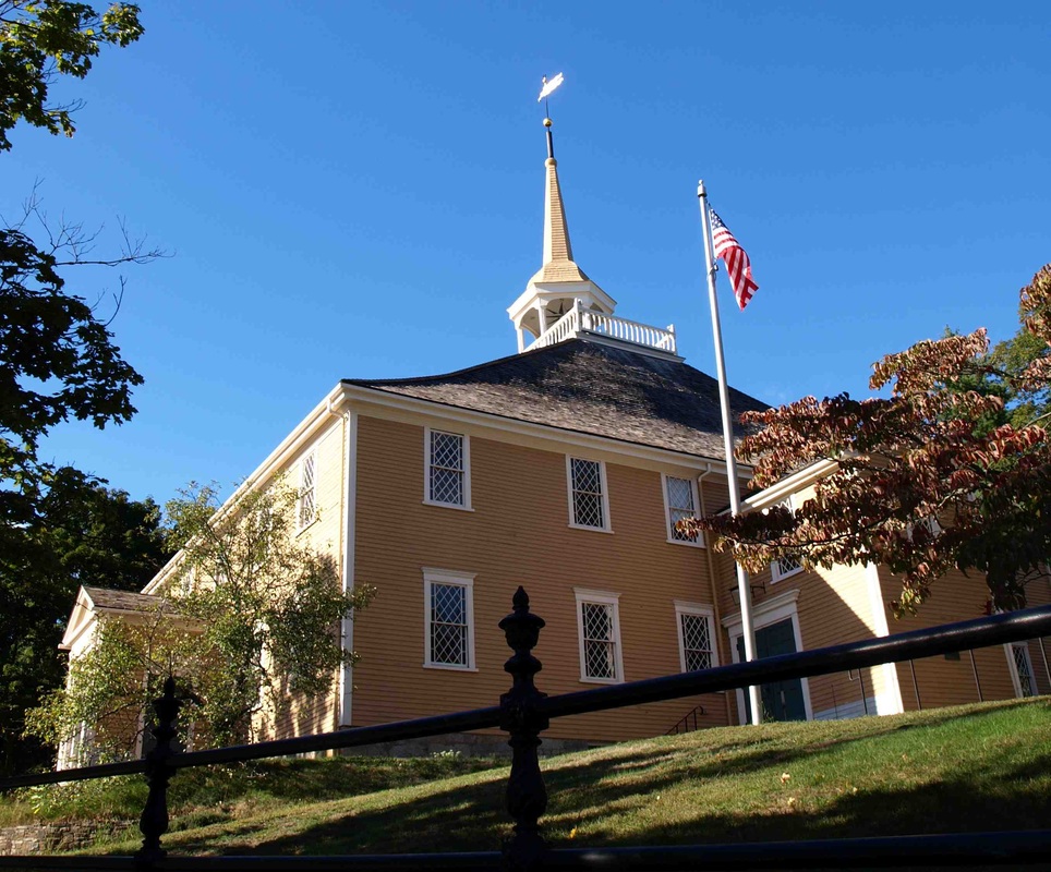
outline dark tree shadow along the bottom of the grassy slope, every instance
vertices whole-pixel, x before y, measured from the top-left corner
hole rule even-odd
[[[1037,765],[1051,767],[1051,754],[1042,754]],[[689,820],[655,824],[627,836],[614,835],[609,826],[616,814],[612,807],[623,796],[603,790],[601,804],[576,809],[581,833],[576,840],[568,838],[565,828],[547,836],[554,847],[608,847],[925,834],[944,832],[946,821],[956,823],[953,832],[1046,827],[1051,796],[1039,785],[1025,789],[1030,779],[1028,767],[1015,767],[987,777],[984,789],[978,792],[964,776],[918,787],[881,787],[842,796],[817,813],[804,808],[798,812],[728,814],[698,808]],[[385,809],[354,811],[262,841],[253,839],[261,827],[252,826],[239,832],[225,850],[264,855],[497,850],[509,832],[504,790],[500,779],[461,786]],[[215,850],[216,845],[183,843],[178,852],[201,848]]]

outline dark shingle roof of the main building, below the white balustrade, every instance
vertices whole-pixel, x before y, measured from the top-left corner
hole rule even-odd
[[[718,383],[678,360],[587,339],[423,378],[343,379],[385,393],[722,459]],[[730,389],[734,419],[769,408]],[[737,438],[741,432],[735,427]]]

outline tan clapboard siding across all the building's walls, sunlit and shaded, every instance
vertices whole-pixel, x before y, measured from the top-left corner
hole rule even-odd
[[[457,424],[444,421],[437,411],[433,419],[419,413],[385,415],[364,409],[359,417],[354,579],[374,585],[377,597],[355,620],[354,646],[363,661],[353,676],[354,726],[496,704],[508,686],[503,664],[510,654],[497,623],[510,609],[519,584],[529,591],[533,610],[547,621],[535,653],[544,663],[537,685],[548,693],[595,686],[580,680],[575,588],[619,594],[626,680],[679,670],[676,600],[713,608],[718,662],[733,662],[728,633],[720,623],[740,610],[732,557],[711,547],[667,541],[661,472],[696,477],[697,470],[662,465],[652,458],[636,463],[624,455],[567,448],[557,434],[526,438],[478,424]],[[471,511],[424,504],[425,426],[470,438]],[[330,554],[337,565],[348,508],[343,502],[346,440],[345,422],[334,416],[330,426],[318,429],[278,470],[298,486],[303,458],[315,452],[318,519],[297,538]],[[613,533],[568,525],[567,453],[605,462]],[[700,495],[701,508],[709,512],[727,502],[725,482],[718,476],[705,477]],[[476,671],[423,666],[424,568],[474,577]],[[950,595],[932,600],[919,618],[889,618],[890,632],[976,616],[984,602],[983,582],[961,579],[946,583]],[[751,582],[757,610],[786,591],[798,591],[797,620],[805,649],[880,633],[885,613],[878,614],[882,606],[877,600],[885,603],[895,595],[895,582],[887,573],[881,571],[873,580],[862,566],[808,570],[778,582],[772,581],[768,569]],[[1032,600],[1034,604],[1051,602],[1051,588],[1044,583]],[[969,609],[969,603],[975,608]],[[1037,687],[1051,691],[1046,655],[1051,655],[1047,645],[1041,650],[1039,641],[1030,644]],[[1014,695],[1003,646],[976,652],[975,662],[984,699]],[[928,658],[914,667],[925,708],[978,699],[966,654],[959,662]],[[917,707],[908,664],[872,667],[861,676],[869,713],[877,713],[875,699],[880,711],[894,711],[899,697],[906,710]],[[809,699],[816,716],[863,711],[857,673],[810,679]],[[592,741],[650,736],[667,730],[698,704],[705,710],[700,726],[738,720],[735,693],[709,694],[560,719],[546,735]],[[339,718],[338,676],[334,675],[330,693],[310,700],[293,694],[287,711],[269,718],[266,735],[334,729]]]

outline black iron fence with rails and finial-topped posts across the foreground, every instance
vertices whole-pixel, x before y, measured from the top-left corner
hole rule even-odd
[[[499,622],[499,627],[514,651],[504,665],[504,669],[511,675],[511,688],[500,697],[499,705],[374,727],[176,753],[172,751],[171,740],[176,735],[174,724],[180,702],[174,681],[169,678],[165,685],[164,697],[155,703],[156,747],[145,760],[0,780],[0,790],[8,790],[29,785],[143,773],[149,791],[140,821],[142,848],[135,855],[124,857],[0,857],[0,869],[134,869],[144,872],[300,869],[389,872],[408,869],[486,869],[526,872],[540,869],[846,869],[907,864],[1018,867],[1044,864],[1051,860],[1051,829],[732,845],[553,849],[545,841],[540,824],[547,808],[547,792],[536,754],[541,744],[540,734],[547,728],[552,717],[734,690],[749,685],[829,675],[882,663],[897,663],[1034,639],[1051,633],[1051,606],[557,697],[542,693],[533,680],[541,669],[541,663],[532,652],[544,627],[544,620],[530,611],[529,597],[521,588],[515,594],[514,610]],[[507,784],[507,809],[515,822],[512,832],[499,850],[342,857],[177,857],[167,853],[162,847],[161,840],[169,823],[168,783],[178,770],[355,748],[496,726],[510,736],[508,744],[511,747],[511,771]]]

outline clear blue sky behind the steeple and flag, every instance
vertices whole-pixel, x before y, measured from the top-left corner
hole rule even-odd
[[[4,216],[40,180],[100,252],[123,216],[172,254],[112,324],[138,414],[46,446],[135,497],[230,485],[341,377],[516,351],[545,73],[577,262],[713,372],[704,178],[760,284],[745,313],[720,289],[729,380],[768,402],[865,395],[945,326],[1006,338],[1051,259],[1044,3],[143,7],[57,92],[86,100],[75,138],[20,128],[0,157]]]

